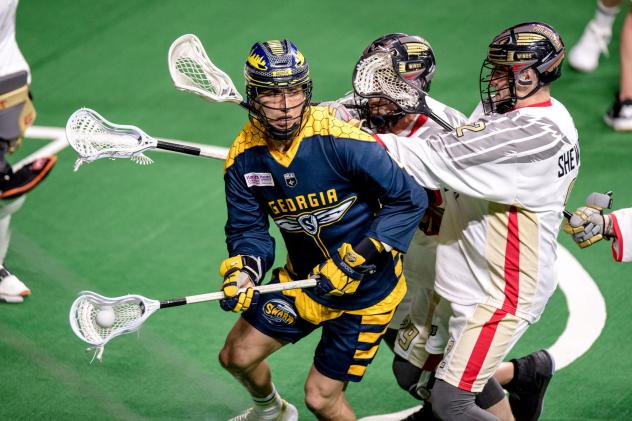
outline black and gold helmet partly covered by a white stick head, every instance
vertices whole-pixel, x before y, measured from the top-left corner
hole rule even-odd
[[[430,90],[436,60],[428,41],[417,35],[387,34],[369,44],[358,63],[378,51],[387,51],[391,54],[395,71],[408,83],[424,92]],[[389,99],[387,96],[384,98]],[[389,131],[405,115],[401,109],[388,114],[376,114],[373,112],[375,110],[369,107],[366,98],[356,97],[356,105],[360,109],[360,117],[372,130],[378,132]]]

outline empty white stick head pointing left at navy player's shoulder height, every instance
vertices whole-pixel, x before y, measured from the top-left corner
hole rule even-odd
[[[75,171],[81,164],[101,158],[129,158],[140,165],[153,161],[143,151],[155,148],[158,142],[135,126],[110,123],[89,108],[75,111],[66,123],[66,140],[79,154]]]

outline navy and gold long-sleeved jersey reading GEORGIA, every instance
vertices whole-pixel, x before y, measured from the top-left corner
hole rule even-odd
[[[394,248],[375,274],[352,295],[314,296],[340,309],[368,307],[387,296],[402,276],[405,252],[426,208],[424,190],[391,160],[369,134],[337,120],[327,108],[311,107],[305,126],[285,152],[268,148],[251,123],[237,136],[226,159],[224,181],[231,256],[274,262],[269,218],[288,251],[286,268],[306,278],[344,242],[372,237]]]

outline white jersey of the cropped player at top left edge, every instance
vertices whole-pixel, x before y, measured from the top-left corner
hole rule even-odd
[[[30,84],[29,65],[15,40],[15,12],[18,0],[2,0],[0,3],[0,76],[26,70]]]

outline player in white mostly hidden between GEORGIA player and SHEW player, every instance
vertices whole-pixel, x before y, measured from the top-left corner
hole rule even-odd
[[[416,35],[387,34],[373,41],[364,50],[359,62],[376,51],[391,54],[399,75],[428,92],[436,69],[435,55],[428,41]],[[461,112],[439,101],[428,97],[427,102],[451,126],[460,126],[467,121]],[[373,133],[393,133],[409,138],[411,142],[424,141],[445,130],[425,114],[404,112],[381,91],[376,91],[371,98],[348,95],[327,105],[334,108],[336,115],[343,120],[362,121],[365,128]],[[430,374],[441,360],[447,342],[447,329],[443,324],[431,323],[439,302],[433,285],[443,199],[439,190],[427,193],[432,205],[426,210],[404,259],[408,291],[384,335],[384,341],[395,353],[393,374],[397,383],[421,401],[428,398]],[[428,341],[431,331],[432,338]],[[411,419],[416,416],[412,415]]]

